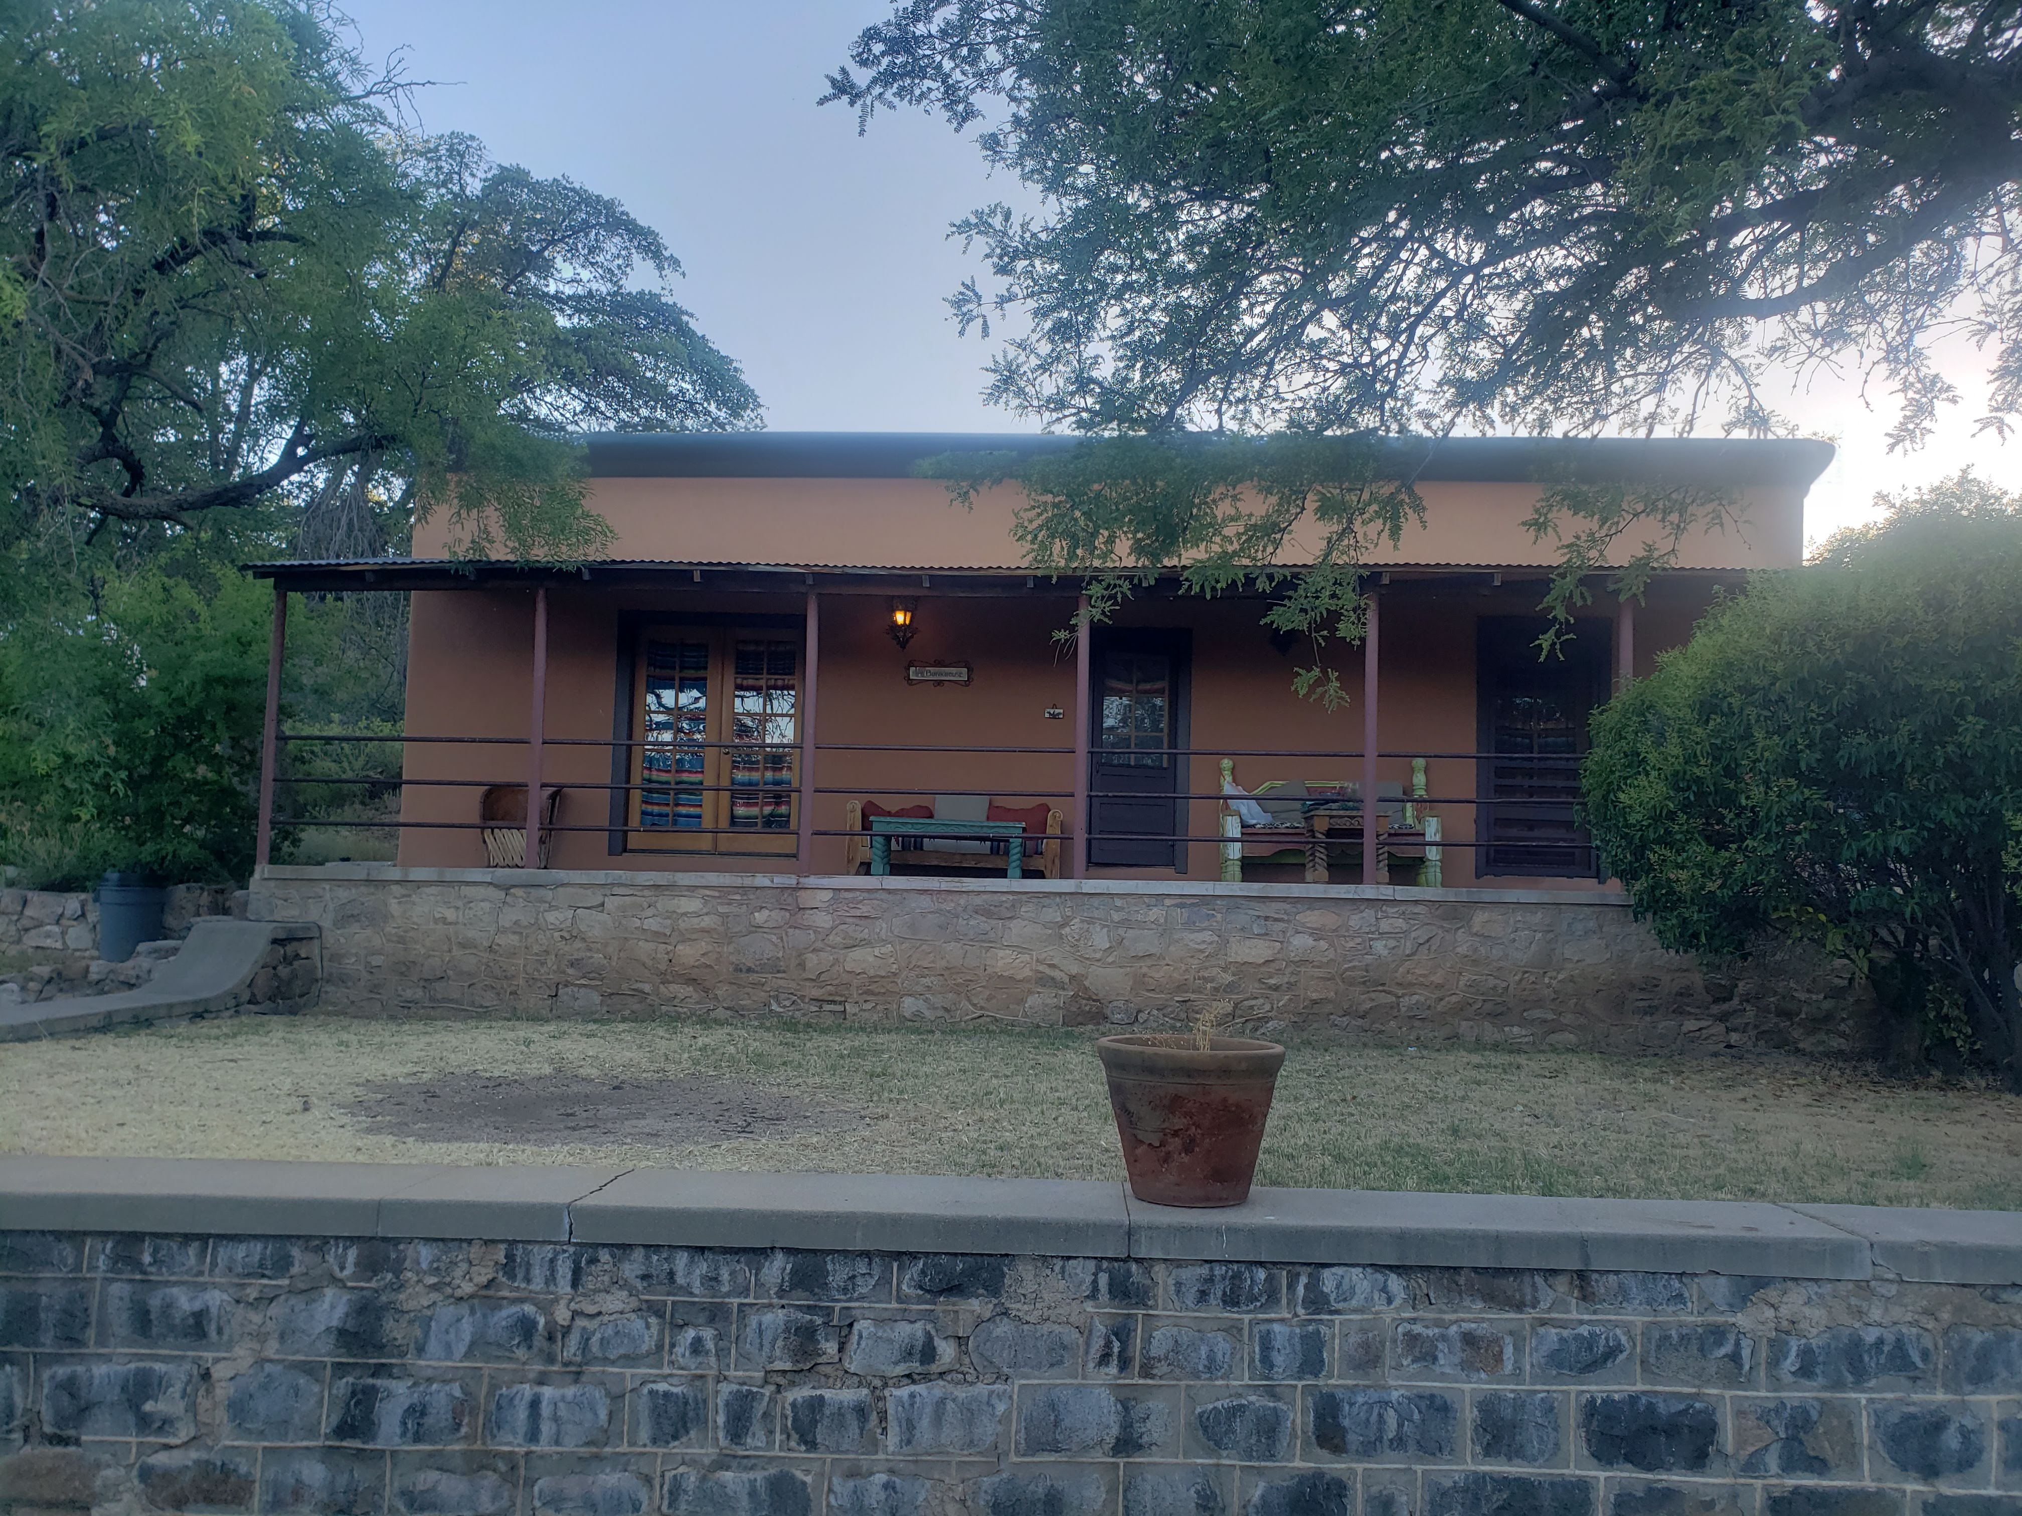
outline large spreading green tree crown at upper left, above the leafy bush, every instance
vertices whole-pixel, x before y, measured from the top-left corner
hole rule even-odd
[[[386,477],[473,550],[568,556],[601,536],[568,433],[756,424],[653,228],[406,133],[317,0],[0,0],[0,38],[16,550]]]

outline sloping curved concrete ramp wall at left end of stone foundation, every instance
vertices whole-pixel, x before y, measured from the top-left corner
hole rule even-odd
[[[233,1011],[307,1011],[321,978],[319,938],[311,922],[206,916],[190,926],[182,952],[137,990],[0,1009],[0,1043]]]

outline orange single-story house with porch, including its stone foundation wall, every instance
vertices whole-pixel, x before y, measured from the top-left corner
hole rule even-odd
[[[1086,637],[1019,485],[950,501],[973,435],[588,443],[609,554],[263,564],[408,590],[392,863],[267,859],[295,815],[269,697],[253,912],[321,928],[354,1015],[837,1015],[1337,1027],[1553,1047],[1848,1047],[1858,986],[1664,952],[1575,811],[1587,716],[1721,588],[1798,564],[1808,441],[1452,439],[1389,457],[1423,524],[1369,564],[1347,705],[1264,594],[1177,576]],[[1541,479],[1703,485],[1725,532],[1541,659]],[[311,780],[313,782],[313,780]],[[528,794],[542,796],[530,809]],[[1365,827],[1365,796],[1369,798]],[[528,863],[536,867],[526,867]]]

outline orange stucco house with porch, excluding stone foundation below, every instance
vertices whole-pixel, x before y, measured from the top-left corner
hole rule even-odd
[[[453,562],[447,524],[427,522],[406,560],[255,572],[277,590],[412,590],[408,867],[499,861],[538,709],[552,794],[536,849],[560,869],[1003,873],[1005,827],[926,825],[967,833],[995,811],[1031,839],[1025,877],[1591,885],[1571,804],[1587,712],[1721,586],[1800,562],[1804,495],[1832,457],[1810,441],[1399,443],[1426,517],[1375,558],[1377,635],[1332,649],[1349,703],[1328,712],[1294,693],[1310,649],[1260,623],[1262,596],[1161,582],[1062,637],[1080,586],[1023,562],[1019,487],[964,509],[916,475],[938,453],[1074,445],[596,437],[605,560]],[[1725,487],[1741,526],[1688,538],[1642,604],[1597,594],[1541,659],[1555,544],[1525,519],[1537,481],[1567,473]],[[487,829],[485,804],[514,825]],[[876,849],[880,811],[916,825],[886,823]]]

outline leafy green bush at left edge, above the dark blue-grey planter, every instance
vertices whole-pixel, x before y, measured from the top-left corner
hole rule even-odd
[[[0,639],[0,857],[26,883],[253,867],[271,600],[144,570]]]

